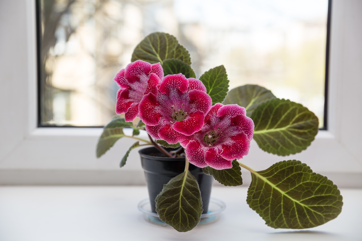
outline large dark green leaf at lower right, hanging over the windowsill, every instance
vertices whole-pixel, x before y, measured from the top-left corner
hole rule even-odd
[[[337,218],[342,196],[331,180],[296,160],[252,171],[247,203],[272,228],[312,228]]]

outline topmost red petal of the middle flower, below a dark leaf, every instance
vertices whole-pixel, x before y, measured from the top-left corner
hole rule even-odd
[[[163,94],[169,94],[175,90],[184,93],[189,87],[189,82],[183,74],[169,74],[165,76],[160,85],[160,92]]]

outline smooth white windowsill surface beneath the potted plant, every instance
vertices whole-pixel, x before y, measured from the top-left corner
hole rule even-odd
[[[309,229],[273,229],[246,203],[247,188],[213,187],[226,203],[216,223],[178,233],[148,223],[137,204],[146,186],[0,187],[0,240],[361,240],[362,189],[342,189],[344,206],[334,220]]]

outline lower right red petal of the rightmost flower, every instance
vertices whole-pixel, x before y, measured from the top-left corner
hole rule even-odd
[[[244,132],[237,133],[231,137],[231,140],[230,144],[222,145],[223,151],[220,153],[220,156],[227,160],[234,160],[248,155],[250,140],[247,134]]]

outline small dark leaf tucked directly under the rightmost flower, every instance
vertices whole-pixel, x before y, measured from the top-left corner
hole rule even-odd
[[[202,168],[207,174],[215,178],[216,181],[220,182],[224,186],[240,186],[243,185],[243,178],[241,178],[241,168],[237,160],[232,161],[232,168],[216,170],[211,167]]]

